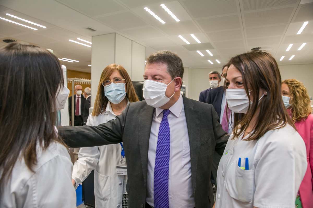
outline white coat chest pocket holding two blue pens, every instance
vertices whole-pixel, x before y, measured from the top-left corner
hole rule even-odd
[[[247,204],[253,202],[254,170],[243,170],[234,160],[227,171],[224,185],[232,198]]]

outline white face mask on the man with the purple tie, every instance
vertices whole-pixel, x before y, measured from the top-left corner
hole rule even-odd
[[[174,80],[172,80],[168,85],[170,85],[173,81]],[[146,100],[147,104],[154,108],[160,108],[161,106],[167,104],[175,94],[174,92],[174,94],[169,98],[165,95],[168,85],[153,80],[145,80],[143,82],[142,91],[143,98]]]

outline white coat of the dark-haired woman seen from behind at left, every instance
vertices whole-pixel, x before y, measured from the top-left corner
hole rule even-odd
[[[1,184],[0,207],[76,208],[72,168],[64,145],[52,142],[44,152],[37,145],[34,172],[28,169],[24,158],[16,161],[10,179]]]

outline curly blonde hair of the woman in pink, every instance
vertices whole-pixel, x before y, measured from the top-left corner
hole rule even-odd
[[[294,122],[306,119],[312,112],[311,100],[302,82],[295,79],[288,79],[282,82],[290,89],[290,104],[292,108],[292,120]]]

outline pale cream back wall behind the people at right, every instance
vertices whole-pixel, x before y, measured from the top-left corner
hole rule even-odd
[[[313,64],[280,65],[281,79],[297,79],[305,85],[309,95],[313,97]],[[198,100],[201,91],[209,88],[208,73],[220,68],[189,69],[189,97]],[[185,80],[186,82],[186,80]],[[223,83],[221,82],[220,85]]]

